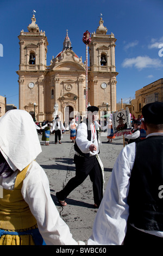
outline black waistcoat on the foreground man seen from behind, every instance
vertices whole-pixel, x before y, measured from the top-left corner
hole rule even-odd
[[[151,136],[136,143],[128,194],[128,222],[145,230],[163,231],[163,136]]]

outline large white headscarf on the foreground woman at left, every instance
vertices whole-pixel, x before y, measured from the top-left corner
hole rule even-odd
[[[12,170],[23,170],[41,153],[32,116],[13,109],[0,119],[0,151]]]

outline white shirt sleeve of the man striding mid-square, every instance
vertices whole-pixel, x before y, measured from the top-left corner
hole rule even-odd
[[[78,125],[76,143],[84,154],[90,153],[89,147],[92,142],[87,139],[87,125],[85,123]]]

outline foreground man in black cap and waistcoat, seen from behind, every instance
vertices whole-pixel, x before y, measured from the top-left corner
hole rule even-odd
[[[162,245],[163,102],[142,115],[147,137],[117,157],[88,245]]]

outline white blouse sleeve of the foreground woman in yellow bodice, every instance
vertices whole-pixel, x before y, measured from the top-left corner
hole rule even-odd
[[[23,181],[22,196],[36,218],[46,245],[78,245],[51,198],[46,173],[35,161]]]

